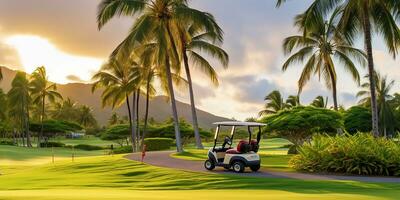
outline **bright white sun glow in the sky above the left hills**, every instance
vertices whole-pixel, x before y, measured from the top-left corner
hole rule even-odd
[[[71,82],[67,78],[71,75],[84,82],[90,81],[103,62],[98,58],[63,52],[49,40],[34,35],[14,35],[5,42],[16,49],[26,72],[32,73],[37,67],[45,66],[49,79],[57,83]]]

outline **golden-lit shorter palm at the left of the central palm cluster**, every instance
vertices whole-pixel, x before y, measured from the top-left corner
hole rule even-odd
[[[102,106],[111,106],[113,109],[119,107],[124,102],[128,108],[129,126],[132,132],[132,149],[136,151],[137,133],[133,126],[131,105],[129,96],[136,91],[138,79],[137,72],[131,63],[126,61],[118,61],[116,59],[109,60],[104,64],[100,71],[93,76],[95,81],[92,87],[94,92],[98,88],[104,88],[101,98]]]

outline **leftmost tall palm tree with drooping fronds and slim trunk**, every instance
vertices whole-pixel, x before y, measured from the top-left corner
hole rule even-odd
[[[29,95],[29,80],[25,72],[17,72],[8,91],[9,115],[20,125],[20,130],[25,132],[26,144],[32,147],[29,133],[29,105],[31,98]]]

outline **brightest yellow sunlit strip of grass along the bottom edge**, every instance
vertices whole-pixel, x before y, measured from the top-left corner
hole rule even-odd
[[[0,191],[1,199],[10,200],[87,200],[87,199],[140,199],[140,200],[188,200],[188,199],[248,199],[252,200],[281,200],[281,199],[386,199],[380,197],[368,197],[365,195],[348,194],[302,194],[287,191],[275,190],[181,190],[181,191],[138,191],[138,190],[21,190],[21,191]]]

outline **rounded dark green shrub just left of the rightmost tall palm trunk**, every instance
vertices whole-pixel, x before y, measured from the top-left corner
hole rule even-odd
[[[350,134],[371,132],[371,111],[362,106],[353,106],[344,113],[344,127]]]

